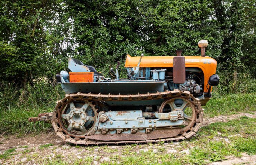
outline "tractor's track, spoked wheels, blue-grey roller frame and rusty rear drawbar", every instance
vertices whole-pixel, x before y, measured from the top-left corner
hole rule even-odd
[[[106,101],[157,99],[165,101],[152,112],[111,111],[104,105]],[[179,90],[137,95],[74,93],[57,101],[53,113],[29,120],[47,121],[50,116],[55,133],[69,143],[146,143],[190,138],[202,125],[203,110],[198,99]]]

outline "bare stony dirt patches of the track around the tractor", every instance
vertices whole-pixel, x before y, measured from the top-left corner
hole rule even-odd
[[[217,116],[213,118],[205,118],[203,121],[203,126],[207,126],[214,122],[227,122],[232,119],[237,119],[241,116],[247,116],[250,118],[256,118],[256,114],[249,113],[239,113],[230,116]],[[49,144],[48,147],[42,149],[42,145]],[[22,147],[23,146],[23,147]],[[24,147],[25,146],[25,147]],[[173,143],[164,143],[163,147],[166,153],[175,153],[180,152],[183,154],[188,154],[189,150],[181,150],[179,147],[181,146],[181,142],[173,142]],[[13,155],[12,159],[4,160],[0,159],[0,164],[38,164],[37,158],[40,157],[44,159],[46,155],[48,158],[55,158],[56,156],[63,157],[73,157],[73,158],[84,158],[84,157],[92,157],[94,159],[94,164],[99,164],[102,162],[111,161],[107,155],[109,153],[118,153],[118,150],[127,148],[126,145],[109,145],[104,146],[100,150],[97,148],[98,146],[89,146],[89,147],[76,147],[70,144],[65,144],[61,138],[58,136],[49,133],[49,134],[39,134],[39,135],[27,135],[25,137],[17,138],[16,136],[10,136],[8,138],[1,137],[0,138],[0,154],[3,154],[6,150],[11,148],[16,148],[16,154]],[[153,150],[153,152],[159,152],[161,150],[159,146],[150,146],[147,144],[141,144],[138,146],[132,147],[129,152],[141,152],[147,151],[149,149]],[[26,152],[28,151],[28,152]],[[26,153],[26,154],[24,154]],[[50,156],[49,156],[50,155]],[[72,162],[72,161],[71,161]],[[70,162],[70,163],[71,163]],[[118,163],[118,162],[117,162]],[[226,161],[222,162],[214,162],[212,165],[223,165],[223,164],[256,164],[256,155],[249,156],[247,154],[243,154],[241,158],[230,157]]]

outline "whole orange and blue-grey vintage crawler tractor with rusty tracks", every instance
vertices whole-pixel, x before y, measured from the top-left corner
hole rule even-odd
[[[29,121],[48,121],[64,141],[74,144],[145,143],[188,139],[203,121],[203,109],[217,86],[217,62],[205,56],[126,57],[128,79],[106,78],[94,67],[68,59],[69,72],[56,75],[66,95],[52,113]]]

